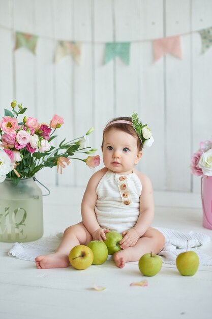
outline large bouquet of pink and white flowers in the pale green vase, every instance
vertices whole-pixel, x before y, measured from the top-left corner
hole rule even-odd
[[[5,178],[11,178],[17,184],[20,178],[33,177],[44,167],[57,166],[60,168],[70,164],[69,158],[79,159],[94,168],[100,164],[100,157],[88,156],[86,159],[73,157],[75,153],[92,154],[97,149],[84,147],[88,135],[94,130],[90,128],[86,135],[69,142],[65,139],[56,148],[50,142],[56,138],[53,135],[57,128],[64,124],[64,119],[54,115],[49,124],[38,123],[33,117],[22,118],[18,122],[18,116],[25,113],[26,108],[14,100],[11,103],[12,111],[5,109],[5,117],[0,121],[0,182]],[[15,110],[16,109],[16,110]]]

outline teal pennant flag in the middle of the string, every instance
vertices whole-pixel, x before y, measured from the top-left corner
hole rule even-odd
[[[105,44],[104,64],[119,57],[122,61],[130,64],[130,42],[108,42]]]

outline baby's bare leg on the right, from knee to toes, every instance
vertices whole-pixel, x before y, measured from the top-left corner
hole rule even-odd
[[[164,235],[154,228],[149,228],[144,235],[139,238],[136,245],[114,253],[113,259],[117,267],[123,268],[127,261],[138,261],[141,256],[152,251],[158,254],[164,247]]]

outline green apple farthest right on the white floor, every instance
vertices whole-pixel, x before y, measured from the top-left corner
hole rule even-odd
[[[176,257],[176,267],[183,276],[193,276],[199,267],[199,257],[194,251],[180,253]]]

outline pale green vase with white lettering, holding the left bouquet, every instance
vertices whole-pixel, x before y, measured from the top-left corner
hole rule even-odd
[[[0,241],[31,242],[43,235],[43,198],[33,177],[0,183]]]

